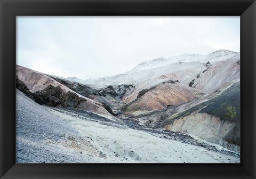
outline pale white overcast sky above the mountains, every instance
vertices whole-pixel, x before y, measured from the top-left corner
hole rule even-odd
[[[142,61],[240,51],[239,17],[18,17],[17,64],[80,79]]]

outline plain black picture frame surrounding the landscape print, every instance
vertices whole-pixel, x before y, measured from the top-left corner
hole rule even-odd
[[[0,0],[1,178],[255,178],[256,2]],[[17,15],[240,15],[241,164],[15,164]]]

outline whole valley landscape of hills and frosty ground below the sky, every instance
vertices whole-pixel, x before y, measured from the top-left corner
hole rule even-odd
[[[17,70],[17,162],[240,162],[240,54],[81,80]]]

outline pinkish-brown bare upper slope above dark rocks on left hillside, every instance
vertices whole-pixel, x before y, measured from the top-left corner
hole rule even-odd
[[[46,87],[52,85],[54,87],[60,86],[61,90],[64,93],[72,92],[76,93],[73,90],[70,90],[67,86],[57,82],[53,78],[43,74],[42,72],[38,72],[35,70],[31,70],[29,68],[16,66],[16,75],[18,78],[27,85],[31,92],[37,92],[41,90],[45,90]],[[96,112],[102,115],[110,115],[110,113],[102,107],[101,103],[95,102],[79,93],[76,93],[79,97],[82,97],[84,102],[78,105],[78,108],[83,110],[88,110],[92,112]]]

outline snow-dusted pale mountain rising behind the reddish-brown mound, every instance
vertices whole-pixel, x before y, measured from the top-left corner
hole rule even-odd
[[[138,64],[124,74],[113,77],[81,80],[79,83],[102,88],[109,85],[134,85],[135,89],[123,101],[130,103],[139,92],[173,80],[181,85],[209,94],[239,81],[240,54],[220,50],[208,55],[181,55],[154,59]]]

